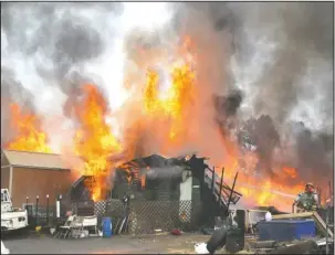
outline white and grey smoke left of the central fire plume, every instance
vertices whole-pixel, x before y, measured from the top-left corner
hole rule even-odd
[[[136,30],[157,33],[172,18],[169,4],[163,2],[8,3],[1,13],[1,67],[11,70],[17,86],[34,95],[32,103],[44,116],[54,147],[63,135],[55,129],[71,127],[63,116],[66,78],[73,73],[90,77],[106,92],[112,110],[117,110],[132,97],[124,86],[125,65],[133,61],[126,38]],[[119,134],[117,121],[108,123]]]

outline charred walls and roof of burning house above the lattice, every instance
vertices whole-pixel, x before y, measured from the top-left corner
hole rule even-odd
[[[220,180],[205,160],[195,155],[170,159],[151,155],[134,159],[113,172],[113,189],[106,190],[105,199],[122,200],[130,194],[135,201],[190,201],[193,208],[199,205],[197,214],[201,225],[210,224],[208,221],[221,216],[227,205],[235,204],[242,195]],[[73,183],[69,200],[91,200],[90,185],[95,184],[94,177],[81,177]]]

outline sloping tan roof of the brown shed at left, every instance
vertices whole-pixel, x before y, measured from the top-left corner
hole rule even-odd
[[[64,169],[64,170],[71,169],[69,158],[66,160],[61,155],[15,151],[15,150],[2,150],[2,153],[6,156],[10,164],[17,167]]]

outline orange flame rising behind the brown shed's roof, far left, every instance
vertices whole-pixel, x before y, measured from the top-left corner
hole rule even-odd
[[[15,135],[6,146],[7,149],[51,153],[46,135],[41,130],[38,117],[23,113],[17,104],[10,105],[10,125]]]

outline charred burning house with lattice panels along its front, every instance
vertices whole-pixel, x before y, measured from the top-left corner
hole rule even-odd
[[[134,159],[119,166],[113,180],[113,188],[105,198],[109,203],[105,204],[103,213],[108,214],[117,201],[129,194],[135,217],[130,225],[136,224],[134,232],[147,233],[155,227],[170,231],[180,224],[188,230],[212,225],[213,217],[223,215],[228,203],[234,204],[241,196],[233,191],[229,198],[230,187],[212,174],[205,158],[196,156],[166,159],[153,155]],[[73,184],[69,193],[73,202],[93,198],[90,181],[92,185],[96,184],[88,176]]]

